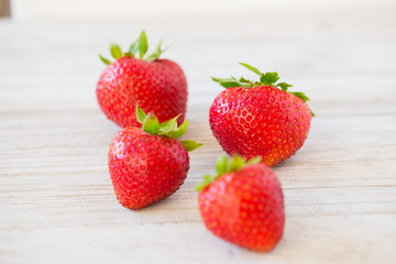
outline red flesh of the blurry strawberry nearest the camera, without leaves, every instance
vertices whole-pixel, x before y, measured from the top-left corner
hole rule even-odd
[[[282,239],[282,187],[264,164],[222,175],[199,193],[198,204],[207,229],[226,241],[265,252]]]

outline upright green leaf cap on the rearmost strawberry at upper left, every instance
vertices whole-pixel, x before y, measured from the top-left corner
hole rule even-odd
[[[157,58],[160,58],[160,55],[163,52],[165,52],[165,50],[163,50],[161,46],[162,46],[162,41],[160,41],[160,43],[156,46],[154,53],[152,53],[151,55],[145,56],[145,54],[148,51],[148,42],[147,42],[147,36],[146,36],[145,32],[142,31],[139,38],[135,42],[133,42],[133,44],[130,46],[130,48],[128,50],[127,53],[123,53],[121,47],[118,44],[112,44],[110,46],[110,54],[116,61],[119,59],[120,57],[125,57],[127,56],[127,57],[136,57],[139,59],[146,61],[146,62],[154,62]],[[139,56],[138,56],[138,53],[139,53]],[[100,54],[99,54],[99,58],[106,65],[109,65],[111,63],[111,61],[105,58]]]

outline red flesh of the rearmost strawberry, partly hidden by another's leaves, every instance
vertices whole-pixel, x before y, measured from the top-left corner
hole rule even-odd
[[[108,65],[97,85],[97,98],[108,119],[122,128],[138,127],[135,108],[153,112],[164,122],[177,114],[182,124],[187,107],[187,81],[183,69],[168,59],[145,62],[121,57]]]

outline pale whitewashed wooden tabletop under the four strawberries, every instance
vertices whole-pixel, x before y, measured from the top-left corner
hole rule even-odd
[[[125,23],[0,21],[0,263],[395,263],[395,7],[133,19]],[[116,200],[108,144],[119,130],[95,97],[97,53],[146,29],[189,82],[186,183],[134,212]],[[210,75],[278,70],[311,98],[304,147],[276,166],[284,239],[268,254],[204,227],[195,186],[222,153],[208,125],[221,88]]]

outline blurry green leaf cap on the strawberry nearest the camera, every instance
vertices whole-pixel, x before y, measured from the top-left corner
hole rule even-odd
[[[217,175],[204,175],[204,182],[196,187],[196,190],[199,193],[201,189],[209,186],[211,183],[213,183],[216,179],[218,179],[220,176],[222,176],[226,173],[229,172],[237,173],[241,170],[243,167],[252,164],[257,164],[261,161],[262,161],[261,156],[252,157],[248,162],[246,158],[244,157],[233,156],[229,162],[226,155],[221,155],[216,162]]]

